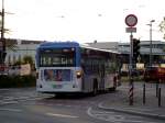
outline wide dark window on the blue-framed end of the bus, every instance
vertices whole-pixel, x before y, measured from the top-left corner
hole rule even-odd
[[[75,48],[54,48],[40,51],[40,67],[74,67]]]

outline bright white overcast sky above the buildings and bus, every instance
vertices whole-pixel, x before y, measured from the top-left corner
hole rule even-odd
[[[2,1],[2,0],[1,0]],[[0,1],[0,8],[1,8]],[[165,16],[164,0],[4,0],[9,38],[40,41],[130,42],[125,16],[138,16],[133,37],[163,41],[158,24]]]

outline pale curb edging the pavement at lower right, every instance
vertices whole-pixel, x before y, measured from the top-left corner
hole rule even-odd
[[[108,107],[105,107],[102,103],[99,103],[98,108],[103,109],[103,110],[110,110],[113,112],[128,113],[128,114],[132,114],[132,115],[140,115],[140,116],[147,116],[147,118],[153,118],[153,119],[165,120],[165,115],[144,113],[144,112],[124,110],[124,109],[119,109],[119,108],[110,108],[110,107],[108,108]]]

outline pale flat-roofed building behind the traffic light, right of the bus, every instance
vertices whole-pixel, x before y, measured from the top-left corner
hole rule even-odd
[[[143,63],[144,66],[148,66],[150,63],[150,41],[141,41],[140,43],[140,58],[139,63]],[[90,46],[96,48],[110,49],[121,53],[121,59],[123,64],[129,64],[130,57],[130,43],[119,42],[94,42],[88,43]],[[153,65],[165,64],[165,42],[152,41],[152,63]]]

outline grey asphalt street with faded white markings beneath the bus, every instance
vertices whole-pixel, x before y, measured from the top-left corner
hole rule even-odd
[[[136,88],[141,86],[138,83]],[[61,98],[37,93],[35,88],[0,89],[0,120],[2,123],[164,123],[163,120],[98,107],[108,99],[122,98],[124,89],[128,85],[122,85],[116,92],[96,97]]]

